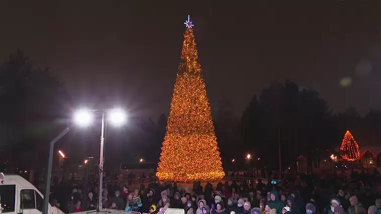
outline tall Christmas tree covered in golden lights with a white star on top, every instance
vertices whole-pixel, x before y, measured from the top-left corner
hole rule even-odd
[[[187,29],[156,176],[177,181],[221,179],[225,173],[189,16],[184,23]]]

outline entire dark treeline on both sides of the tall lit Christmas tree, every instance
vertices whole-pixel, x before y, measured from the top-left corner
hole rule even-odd
[[[35,68],[18,50],[0,67],[0,100],[0,170],[4,164],[44,167],[49,141],[70,124],[76,106],[64,84],[48,68]],[[269,164],[276,169],[279,144],[282,166],[294,166],[300,155],[317,160],[327,149],[338,147],[347,129],[360,146],[378,143],[381,130],[381,111],[360,116],[348,108],[334,113],[317,91],[292,81],[273,83],[254,95],[240,118],[226,100],[212,106],[212,113],[225,168],[244,166],[249,152],[253,166]],[[120,162],[140,158],[157,161],[165,126],[162,114],[157,120],[133,118],[123,129],[108,129],[106,166],[117,168]],[[97,156],[99,130],[73,130],[56,146],[78,161]]]

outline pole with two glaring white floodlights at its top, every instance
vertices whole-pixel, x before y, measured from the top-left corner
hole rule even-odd
[[[86,110],[80,109],[74,113],[74,121],[80,126],[87,126],[91,124],[94,113],[102,112],[102,129],[101,129],[101,145],[99,154],[99,185],[98,185],[98,207],[97,211],[102,208],[102,189],[103,189],[103,164],[104,164],[104,142],[105,142],[105,129],[107,121],[114,125],[123,125],[126,122],[126,113],[121,108],[115,109],[96,109]],[[106,123],[105,123],[106,119]]]

